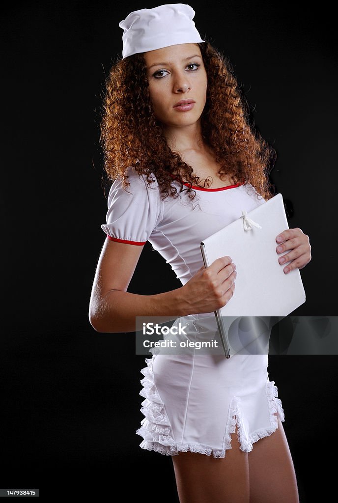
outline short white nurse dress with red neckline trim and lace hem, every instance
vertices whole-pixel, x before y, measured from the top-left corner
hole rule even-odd
[[[134,245],[149,241],[183,285],[203,266],[200,242],[238,218],[241,210],[248,213],[265,203],[249,184],[193,187],[193,201],[186,191],[163,200],[154,175],[149,188],[145,175],[132,167],[127,174],[128,192],[122,177],[111,186],[107,223],[101,228],[111,240]],[[179,191],[180,184],[173,184]],[[214,321],[211,312],[184,316],[175,323],[189,320],[188,337],[203,340],[208,337],[203,324],[208,317]],[[277,415],[284,421],[275,381],[269,380],[268,355],[234,354],[227,359],[195,349],[188,354],[162,354],[159,348],[150,352],[152,358],[145,359],[141,370],[144,418],[136,433],[143,438],[142,449],[224,458],[236,425],[240,449],[250,452],[253,443],[276,431]]]

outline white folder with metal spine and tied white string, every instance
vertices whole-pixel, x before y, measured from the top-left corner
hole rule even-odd
[[[234,317],[284,317],[305,302],[299,269],[285,274],[283,270],[291,261],[278,262],[290,250],[277,254],[276,237],[288,228],[283,197],[277,194],[252,211],[241,208],[236,220],[200,244],[205,267],[224,256],[231,257],[236,264],[234,294],[215,311],[227,358],[230,357],[227,328]]]

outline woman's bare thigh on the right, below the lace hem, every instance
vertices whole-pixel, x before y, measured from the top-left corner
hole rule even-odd
[[[248,453],[250,503],[299,503],[295,469],[283,425]]]

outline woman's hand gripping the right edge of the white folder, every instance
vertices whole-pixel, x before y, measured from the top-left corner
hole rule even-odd
[[[279,240],[280,237],[281,239]],[[296,229],[286,229],[276,236],[276,242],[278,243],[276,248],[278,254],[290,250],[289,253],[278,259],[280,264],[285,264],[285,262],[289,262],[290,260],[292,261],[284,269],[284,273],[287,274],[293,269],[296,269],[296,267],[302,269],[310,262],[311,245],[309,236],[304,234],[302,229],[298,227]]]

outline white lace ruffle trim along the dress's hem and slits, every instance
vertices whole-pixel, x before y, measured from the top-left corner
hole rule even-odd
[[[142,402],[141,412],[144,414],[144,419],[141,421],[141,428],[136,430],[136,434],[143,437],[143,441],[140,443],[142,449],[148,451],[156,451],[160,454],[167,456],[176,456],[179,452],[197,452],[200,454],[206,454],[210,456],[211,454],[214,458],[224,458],[227,449],[231,449],[231,437],[232,433],[236,431],[237,424],[237,437],[240,443],[240,449],[243,452],[250,452],[252,450],[252,444],[260,440],[261,438],[267,437],[274,433],[278,428],[278,418],[275,413],[277,412],[281,418],[281,421],[285,421],[284,410],[282,407],[282,402],[278,398],[278,389],[275,385],[275,381],[267,381],[267,399],[270,410],[270,427],[262,428],[261,430],[256,430],[249,434],[248,438],[242,435],[241,428],[241,416],[239,408],[239,398],[234,396],[231,400],[231,404],[228,412],[228,419],[226,425],[226,431],[223,438],[222,449],[215,449],[208,445],[199,443],[184,443],[175,442],[171,435],[171,426],[167,415],[165,414],[164,404],[157,392],[154,375],[152,371],[153,358],[146,358],[145,362],[147,366],[141,370],[144,378],[141,379],[141,384],[143,388],[140,391],[140,395],[144,396]]]

